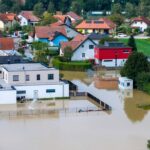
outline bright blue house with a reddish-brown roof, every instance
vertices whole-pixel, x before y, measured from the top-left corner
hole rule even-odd
[[[50,46],[59,46],[60,42],[68,41],[66,30],[62,26],[37,26],[35,27],[34,40],[46,42]]]

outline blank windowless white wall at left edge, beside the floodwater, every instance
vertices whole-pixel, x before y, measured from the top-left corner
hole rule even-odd
[[[0,90],[0,104],[16,104],[15,90]]]

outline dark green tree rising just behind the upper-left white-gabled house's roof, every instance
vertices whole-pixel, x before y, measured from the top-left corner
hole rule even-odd
[[[41,17],[44,13],[44,7],[43,7],[43,4],[42,3],[37,3],[34,5],[34,8],[33,8],[33,13],[38,16],[38,17]]]

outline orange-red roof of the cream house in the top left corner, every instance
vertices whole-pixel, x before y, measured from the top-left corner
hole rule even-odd
[[[0,19],[2,21],[13,21],[16,19],[16,14],[14,13],[0,14]]]

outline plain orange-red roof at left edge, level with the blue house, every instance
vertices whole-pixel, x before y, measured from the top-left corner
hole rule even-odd
[[[14,48],[13,38],[0,38],[0,50],[13,50]]]

